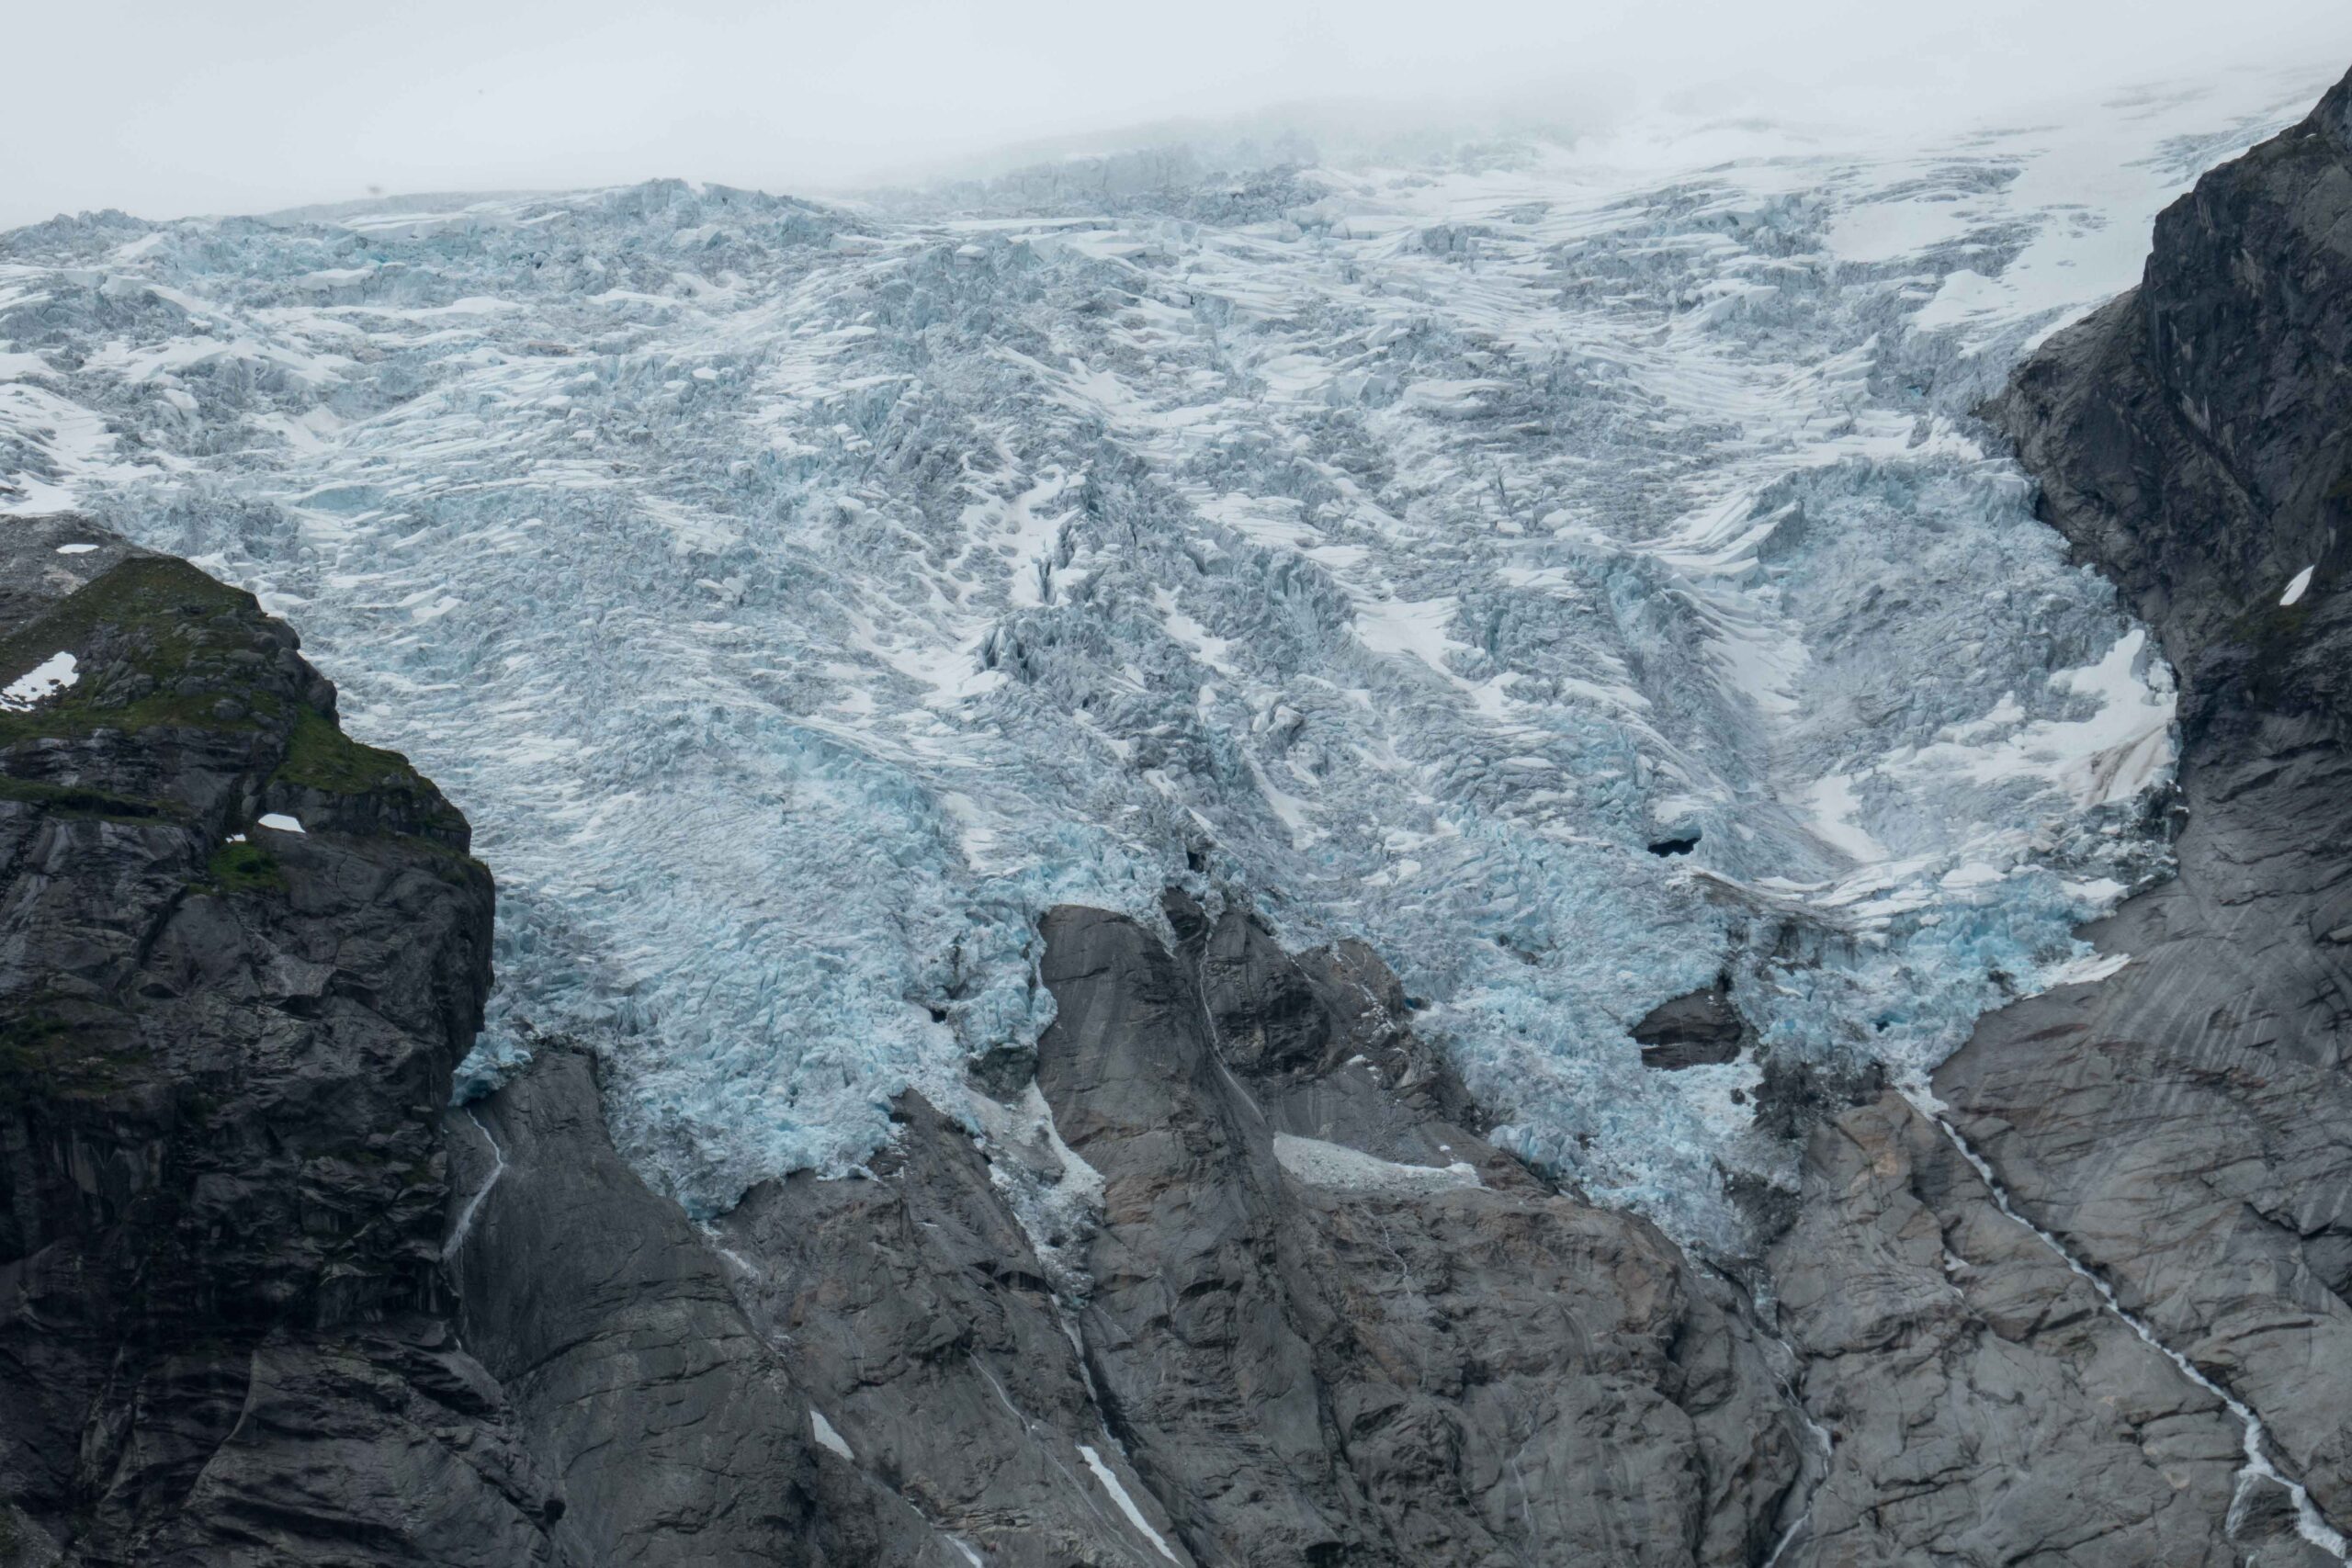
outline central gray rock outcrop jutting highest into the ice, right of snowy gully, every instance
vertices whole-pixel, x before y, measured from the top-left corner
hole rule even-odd
[[[1047,922],[1103,1406],[1218,1563],[1745,1563],[1799,1432],[1738,1302],[1454,1119],[1362,950]],[[1275,1027],[1282,1023],[1282,1027]],[[1454,1114],[1449,1114],[1454,1112]]]

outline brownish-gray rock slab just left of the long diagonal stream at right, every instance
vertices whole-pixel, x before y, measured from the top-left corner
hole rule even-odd
[[[2241,1561],[2239,1425],[1900,1095],[1813,1133],[1771,1269],[1830,1441],[1783,1561]]]

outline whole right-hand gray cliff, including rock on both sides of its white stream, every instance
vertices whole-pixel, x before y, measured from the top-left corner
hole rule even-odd
[[[1990,1182],[1900,1095],[1813,1133],[1771,1267],[1835,1448],[1788,1561],[2336,1561],[2216,1389],[2352,1523],[2352,82],[1987,411],[2178,665],[2178,879],[1936,1072]]]

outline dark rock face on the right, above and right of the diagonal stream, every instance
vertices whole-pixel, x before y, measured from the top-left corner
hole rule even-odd
[[[2352,1526],[2352,78],[2166,209],[1994,416],[2180,670],[2180,877],[2093,929],[2122,973],[1990,1018],[1936,1091]]]

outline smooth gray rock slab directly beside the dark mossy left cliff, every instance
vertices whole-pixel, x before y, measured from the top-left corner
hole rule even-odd
[[[550,1041],[520,1081],[449,1112],[449,1147],[459,1324],[562,1483],[564,1561],[960,1568],[821,1446],[729,1262],[614,1154],[583,1053]]]

